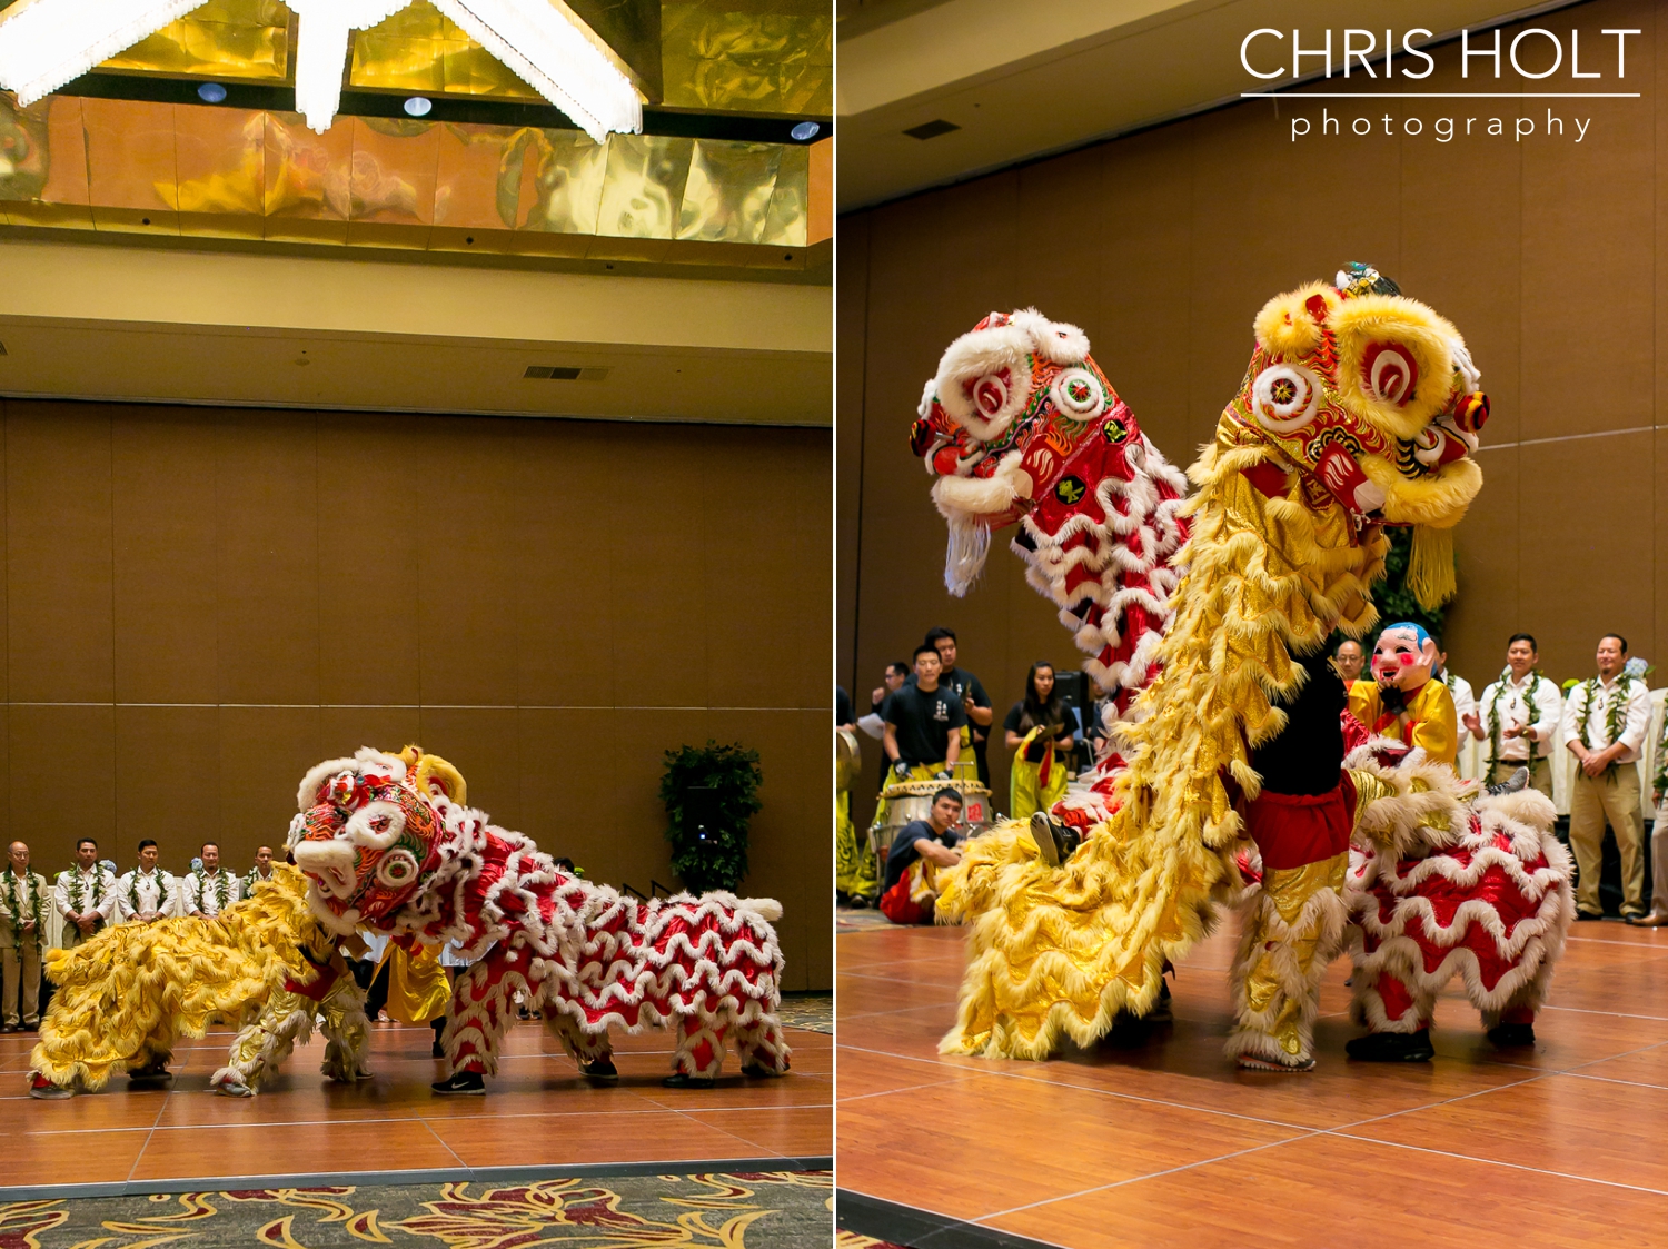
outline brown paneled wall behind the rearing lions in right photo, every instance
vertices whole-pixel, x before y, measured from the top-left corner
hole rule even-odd
[[[1530,25],[1530,23],[1525,23]],[[1536,25],[1548,25],[1538,20]],[[881,665],[932,624],[961,634],[1001,715],[1036,659],[1081,664],[1053,607],[1024,585],[997,535],[966,599],[942,589],[944,525],[906,447],[921,385],[944,347],[984,314],[1037,303],[1083,325],[1096,360],[1143,429],[1186,465],[1211,435],[1249,355],[1251,320],[1271,295],[1368,260],[1465,334],[1493,400],[1480,455],[1486,485],[1458,535],[1460,600],[1448,654],[1476,685],[1500,670],[1508,634],[1541,637],[1550,675],[1586,675],[1598,635],[1668,660],[1668,469],[1656,397],[1668,397],[1668,23],[1643,0],[1561,10],[1551,28],[1590,50],[1628,40],[1626,88],[1640,100],[1253,100],[1083,152],[1041,160],[841,222],[841,430],[861,477],[841,480],[841,675],[859,709]],[[1503,32],[1510,45],[1516,28]],[[1616,90],[1563,70],[1535,90]],[[1481,90],[1460,48],[1434,50],[1419,92]],[[1613,62],[1606,60],[1613,77]],[[1336,90],[1339,83],[1311,90]],[[1351,80],[1349,90],[1413,90]],[[1565,135],[1513,142],[1520,107]],[[1323,108],[1338,135],[1319,135]],[[1416,117],[1418,137],[1383,132]],[[1293,143],[1308,117],[1314,138]],[[1475,115],[1466,142],[1465,118]],[[1369,117],[1371,138],[1349,133]],[[1461,135],[1436,142],[1434,122]],[[1508,135],[1486,140],[1488,117]],[[1591,118],[1575,142],[1573,118]],[[861,342],[851,335],[861,334]],[[861,362],[861,375],[849,362]],[[1651,432],[1651,427],[1656,432]],[[1618,430],[1638,430],[1618,434]],[[1586,437],[1601,434],[1605,437]],[[849,442],[847,442],[849,440]],[[1668,447],[1661,449],[1668,454]],[[842,474],[846,472],[842,464]],[[1655,582],[1651,582],[1655,579]],[[846,585],[851,589],[844,589]],[[1663,610],[1658,610],[1658,602]],[[851,624],[846,624],[846,617]],[[844,667],[854,655],[854,672]],[[1660,682],[1660,677],[1653,677]],[[872,810],[879,745],[866,742],[856,802]],[[1006,805],[1006,750],[992,747]]]

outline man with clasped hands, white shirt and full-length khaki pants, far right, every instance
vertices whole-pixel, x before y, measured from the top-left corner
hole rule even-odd
[[[1623,665],[1628,640],[1606,634],[1598,642],[1598,675],[1583,680],[1565,702],[1560,737],[1580,760],[1570,785],[1570,847],[1580,870],[1576,919],[1603,919],[1598,900],[1600,850],[1605,820],[1621,850],[1621,915],[1628,922],[1645,917],[1645,819],[1640,814],[1638,762],[1651,720],[1651,697],[1643,680]]]

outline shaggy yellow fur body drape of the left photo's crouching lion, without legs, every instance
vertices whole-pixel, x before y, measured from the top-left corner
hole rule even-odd
[[[58,1086],[100,1089],[118,1071],[167,1057],[217,1017],[282,989],[307,966],[300,944],[317,922],[305,880],[289,865],[217,919],[120,924],[47,959],[57,986],[40,1021],[33,1071]]]

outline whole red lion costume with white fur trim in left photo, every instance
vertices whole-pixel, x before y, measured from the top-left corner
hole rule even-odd
[[[514,996],[590,1076],[612,1076],[609,1029],[677,1031],[674,1082],[707,1084],[732,1041],[742,1072],[787,1071],[776,1017],[781,905],[712,892],[634,902],[557,869],[527,837],[464,805],[464,779],[407,747],[332,759],[302,780],[290,852],[327,927],[457,942],[460,971],[440,1044],[445,1092],[497,1071]]]

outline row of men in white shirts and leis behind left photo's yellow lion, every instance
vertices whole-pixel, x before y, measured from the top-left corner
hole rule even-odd
[[[220,865],[220,847],[205,842],[183,875],[160,865],[157,842],[138,844],[138,862],[117,875],[98,859],[98,842],[75,842],[75,862],[48,884],[30,869],[25,842],[12,842],[0,872],[0,1032],[40,1027],[42,954],[75,949],[112,924],[152,924],[175,915],[219,915],[272,877],[272,847],[262,845],[242,877]]]

